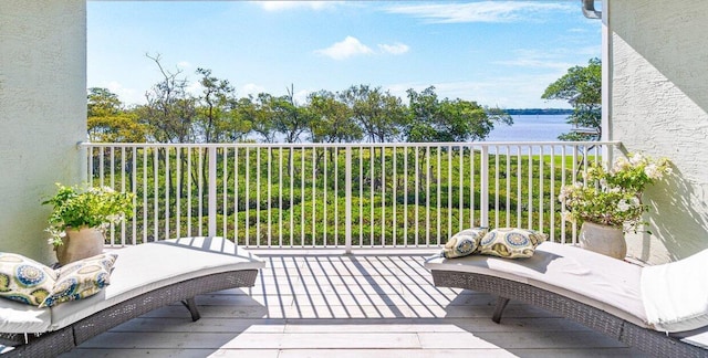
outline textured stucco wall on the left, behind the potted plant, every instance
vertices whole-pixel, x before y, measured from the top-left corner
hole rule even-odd
[[[40,203],[81,178],[85,118],[85,0],[0,1],[0,251],[52,262]]]

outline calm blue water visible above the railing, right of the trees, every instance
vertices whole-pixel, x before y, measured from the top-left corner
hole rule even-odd
[[[555,141],[559,135],[572,128],[565,123],[566,115],[511,117],[513,125],[494,124],[485,141]]]

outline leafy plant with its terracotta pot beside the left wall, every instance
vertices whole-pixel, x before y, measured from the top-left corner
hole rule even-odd
[[[54,197],[42,204],[53,207],[46,232],[61,265],[100,254],[106,228],[133,215],[132,193],[87,185],[56,187]]]

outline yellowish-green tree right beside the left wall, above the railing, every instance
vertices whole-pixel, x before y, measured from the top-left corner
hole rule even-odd
[[[126,110],[118,96],[107,88],[88,88],[88,140],[93,143],[143,143],[146,128],[137,115]]]

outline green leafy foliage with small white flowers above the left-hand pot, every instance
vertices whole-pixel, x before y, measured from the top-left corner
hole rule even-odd
[[[105,230],[133,214],[133,194],[117,192],[110,187],[65,187],[56,183],[58,191],[42,204],[53,207],[49,217],[48,240],[54,246],[63,244],[66,229],[97,228]]]

